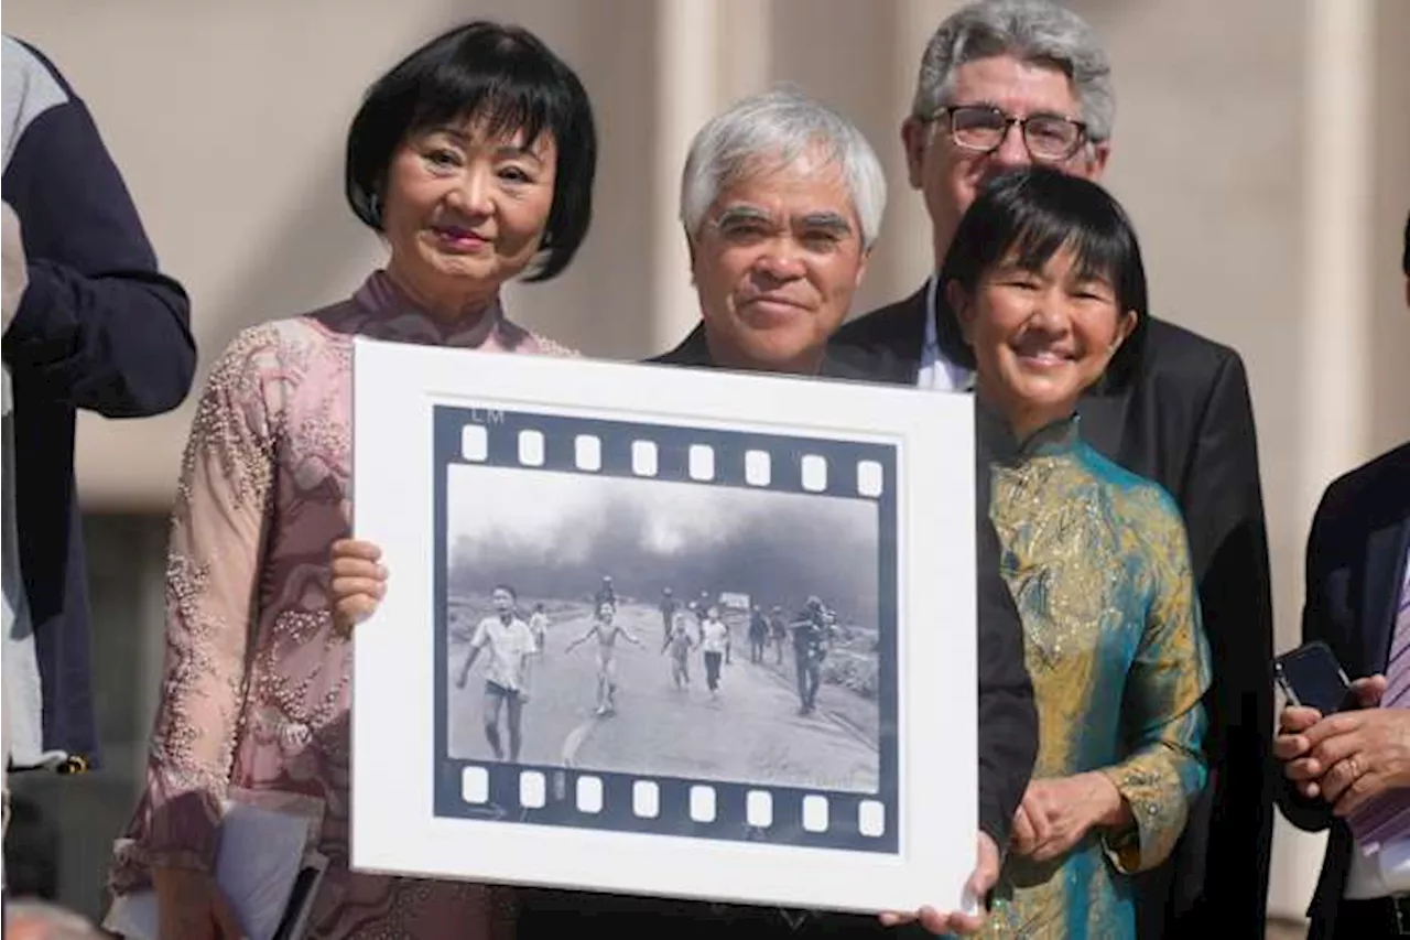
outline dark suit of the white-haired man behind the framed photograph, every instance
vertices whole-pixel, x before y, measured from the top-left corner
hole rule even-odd
[[[705,335],[697,327],[671,351],[649,360],[657,364],[712,367]],[[826,356],[821,377],[867,381],[873,378],[847,361]],[[1014,598],[998,569],[998,535],[988,521],[987,474],[977,474],[983,488],[976,501],[979,563],[979,817],[980,828],[1000,848],[1008,841],[1010,826],[1038,757],[1038,711],[1034,687],[1024,665],[1024,634]],[[519,933],[522,940],[548,940],[564,930],[598,926],[613,933],[639,932],[670,936],[673,940],[715,937],[728,930],[732,937],[847,936],[883,933],[876,917],[825,915],[808,927],[792,930],[770,908],[726,908],[688,900],[657,900],[619,895],[588,895],[557,891],[520,891]],[[588,917],[582,920],[581,917]],[[925,934],[919,927],[911,929]],[[911,932],[908,930],[908,933]],[[895,932],[884,932],[895,936]]]

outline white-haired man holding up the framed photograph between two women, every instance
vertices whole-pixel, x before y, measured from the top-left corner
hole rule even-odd
[[[845,119],[798,95],[736,103],[695,137],[681,183],[702,322],[658,364],[870,378],[835,358],[828,339],[866,271],[885,207],[885,178],[866,138]],[[988,505],[981,481],[977,507]],[[1038,752],[1038,714],[1024,666],[1018,611],[998,567],[998,538],[977,508],[979,852],[970,879],[988,893]],[[331,598],[343,627],[375,610],[385,573],[362,542],[334,546]],[[876,917],[783,912],[689,900],[567,891],[520,891],[520,940],[591,927],[705,940],[874,936]],[[973,933],[983,916],[926,909],[933,933]],[[888,915],[885,923],[911,919]],[[801,919],[801,924],[799,924]],[[795,926],[798,924],[798,926]]]

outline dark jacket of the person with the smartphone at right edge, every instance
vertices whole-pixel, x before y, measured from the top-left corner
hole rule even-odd
[[[1382,672],[1410,546],[1410,445],[1341,477],[1323,494],[1307,538],[1303,641],[1321,639],[1347,675]],[[1321,878],[1307,913],[1313,940],[1331,937],[1351,865],[1351,830],[1324,800],[1303,799],[1277,776],[1277,802],[1293,826],[1331,828]]]

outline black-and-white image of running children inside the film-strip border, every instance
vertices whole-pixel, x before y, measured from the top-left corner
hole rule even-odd
[[[451,758],[877,790],[874,500],[447,474]]]

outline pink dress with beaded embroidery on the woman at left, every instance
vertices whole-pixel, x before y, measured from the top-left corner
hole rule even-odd
[[[385,274],[300,318],[243,332],[212,370],[182,462],[166,565],[166,655],[147,786],[111,872],[212,868],[228,788],[326,802],[330,860],[313,940],[502,933],[512,898],[347,869],[351,644],[333,629],[327,555],[350,532],[351,340],[572,356],[503,319],[443,326]]]

